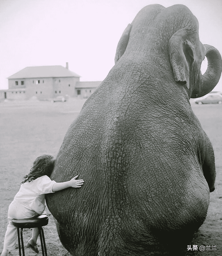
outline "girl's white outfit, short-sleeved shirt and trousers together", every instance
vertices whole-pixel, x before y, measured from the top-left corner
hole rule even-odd
[[[9,205],[4,249],[9,251],[15,249],[17,228],[12,224],[12,219],[29,219],[41,215],[45,209],[45,194],[53,193],[54,183],[56,182],[44,175],[21,184],[18,193]]]

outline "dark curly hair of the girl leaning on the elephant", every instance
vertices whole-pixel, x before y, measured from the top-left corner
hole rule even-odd
[[[53,168],[54,168],[55,160],[53,156],[44,154],[37,157],[33,163],[33,167],[31,168],[29,174],[25,175],[25,180],[21,182],[21,184],[26,181],[30,182],[35,180],[43,175],[47,175],[50,177]]]

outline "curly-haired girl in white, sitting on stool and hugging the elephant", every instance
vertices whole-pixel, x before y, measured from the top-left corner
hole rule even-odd
[[[12,224],[12,219],[30,219],[40,216],[45,209],[45,194],[53,193],[68,187],[80,188],[84,181],[76,180],[75,176],[70,181],[52,181],[50,175],[54,168],[52,156],[42,155],[36,158],[30,173],[24,178],[21,187],[8,209],[8,226],[5,234],[4,247],[1,256],[7,256],[9,250],[15,249],[17,228]],[[32,237],[27,246],[36,253],[39,252],[36,242],[39,236],[38,228],[32,229]]]

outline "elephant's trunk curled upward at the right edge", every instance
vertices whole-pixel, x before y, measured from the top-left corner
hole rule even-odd
[[[199,74],[199,80],[195,84],[191,98],[199,98],[211,92],[220,80],[222,72],[222,60],[219,51],[213,46],[204,44],[208,61],[207,70],[204,75]]]

